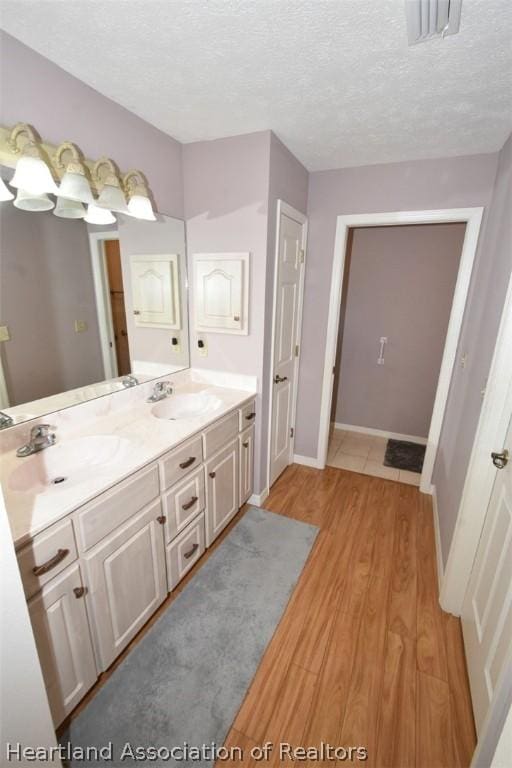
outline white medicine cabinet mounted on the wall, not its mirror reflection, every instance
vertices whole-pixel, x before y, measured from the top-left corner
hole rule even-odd
[[[195,326],[215,333],[249,332],[249,254],[194,254]]]

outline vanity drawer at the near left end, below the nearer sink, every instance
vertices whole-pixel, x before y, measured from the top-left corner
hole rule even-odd
[[[78,557],[69,517],[38,534],[17,557],[28,599]]]

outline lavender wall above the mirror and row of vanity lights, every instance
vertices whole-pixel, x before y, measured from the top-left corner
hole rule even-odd
[[[146,174],[161,213],[183,218],[181,144],[0,31],[0,123],[33,125],[53,144]]]

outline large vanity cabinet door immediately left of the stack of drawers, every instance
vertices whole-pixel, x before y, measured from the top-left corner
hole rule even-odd
[[[160,501],[84,557],[88,605],[101,670],[114,661],[167,594]]]

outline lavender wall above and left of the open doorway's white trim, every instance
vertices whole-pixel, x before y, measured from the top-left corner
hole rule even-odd
[[[487,206],[497,155],[474,155],[310,174],[308,257],[297,453],[315,457],[336,217],[348,213]]]

